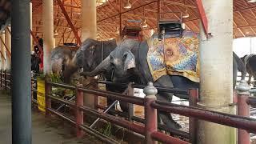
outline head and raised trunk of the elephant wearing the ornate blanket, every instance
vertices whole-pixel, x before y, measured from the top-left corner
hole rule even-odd
[[[93,71],[83,72],[86,76],[95,76],[101,73],[112,73],[114,82],[124,82],[132,76],[130,70],[136,67],[134,54],[131,49],[135,46],[134,40],[122,42],[110,55],[104,59]]]

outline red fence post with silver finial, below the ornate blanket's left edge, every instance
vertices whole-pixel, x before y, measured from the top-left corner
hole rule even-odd
[[[145,143],[146,144],[157,144],[158,142],[154,141],[151,137],[151,134],[155,131],[158,131],[158,118],[157,110],[151,106],[152,102],[155,102],[157,99],[155,94],[158,94],[158,90],[153,86],[152,82],[148,83],[143,89],[145,97]]]

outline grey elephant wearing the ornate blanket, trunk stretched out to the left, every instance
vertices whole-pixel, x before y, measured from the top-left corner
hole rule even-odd
[[[82,72],[82,75],[94,76],[97,74],[105,74],[114,71],[113,82],[135,82],[136,84],[146,85],[148,82],[154,82],[147,63],[147,52],[149,46],[146,41],[138,42],[133,39],[124,40],[118,47],[110,53],[110,55],[101,62],[93,71]],[[238,70],[242,71],[242,78],[245,78],[246,70],[242,65],[242,61],[236,54],[233,57],[234,79]],[[234,81],[234,86],[235,86]],[[168,86],[178,89],[199,88],[198,82],[192,82],[190,79],[176,76],[164,75],[154,82],[154,86]],[[188,99],[185,94],[175,94],[179,98]],[[157,98],[161,101],[171,102],[173,94],[166,92],[158,92]],[[159,111],[158,118],[166,124],[168,128],[179,129],[180,126],[173,120],[171,114]]]

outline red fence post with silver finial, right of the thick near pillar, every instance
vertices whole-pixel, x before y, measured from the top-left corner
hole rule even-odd
[[[250,95],[250,86],[246,80],[241,80],[236,89],[238,90],[238,115],[250,117],[250,106],[246,103],[246,99]],[[250,144],[250,133],[248,131],[238,129],[238,144]]]

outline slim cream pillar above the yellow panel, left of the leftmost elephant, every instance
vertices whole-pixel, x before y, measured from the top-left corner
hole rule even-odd
[[[54,48],[54,2],[42,1],[43,72],[50,74],[50,52]]]

